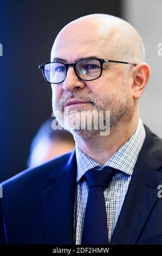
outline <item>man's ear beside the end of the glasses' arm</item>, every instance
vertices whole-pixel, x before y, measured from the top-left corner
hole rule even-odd
[[[134,67],[132,84],[132,95],[134,99],[139,99],[142,92],[144,92],[150,74],[150,66],[147,63],[140,63]]]

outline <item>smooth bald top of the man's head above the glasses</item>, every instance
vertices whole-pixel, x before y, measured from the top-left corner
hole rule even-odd
[[[55,46],[59,51],[61,46],[70,47],[70,42],[73,42],[74,46],[79,41],[82,42],[83,51],[84,44],[89,44],[90,48],[96,44],[100,49],[104,47],[107,54],[102,56],[103,58],[110,59],[114,56],[118,60],[135,64],[144,62],[145,59],[144,44],[136,29],[128,22],[112,15],[92,14],[68,23],[57,35],[51,56],[55,55]],[[76,48],[73,51],[76,51]]]

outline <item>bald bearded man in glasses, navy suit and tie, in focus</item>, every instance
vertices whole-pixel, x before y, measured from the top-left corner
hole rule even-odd
[[[3,182],[2,242],[162,243],[162,141],[139,119],[144,57],[140,35],[118,17],[88,15],[57,35],[52,63],[40,68],[76,147]],[[103,124],[109,111],[109,134],[96,115],[98,129],[88,129],[93,111]]]

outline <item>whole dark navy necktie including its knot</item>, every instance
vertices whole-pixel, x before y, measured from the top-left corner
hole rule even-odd
[[[82,231],[82,245],[107,245],[108,228],[104,188],[109,185],[115,170],[111,167],[90,169],[85,173],[89,186],[85,220]]]

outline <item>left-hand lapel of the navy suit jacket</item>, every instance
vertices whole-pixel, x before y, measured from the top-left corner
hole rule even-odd
[[[56,163],[57,164],[57,163]],[[47,244],[74,243],[75,150],[68,163],[60,162],[42,191],[44,240]]]

